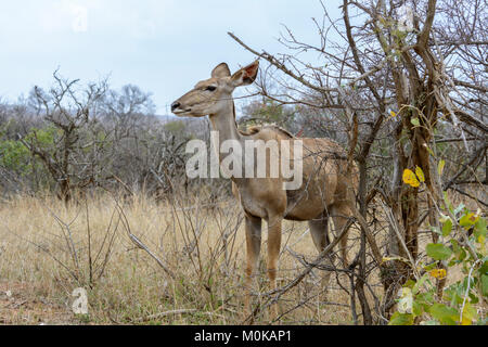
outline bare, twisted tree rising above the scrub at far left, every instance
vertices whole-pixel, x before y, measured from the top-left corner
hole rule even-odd
[[[20,141],[42,162],[57,187],[57,196],[67,204],[74,188],[94,182],[103,169],[103,163],[97,160],[97,155],[91,156],[90,151],[100,149],[100,141],[85,131],[97,124],[92,115],[103,100],[107,85],[106,81],[89,83],[79,91],[78,80],[63,79],[57,70],[53,77],[55,83],[48,92],[36,86],[29,98],[37,115],[53,128],[52,143],[43,141],[38,129],[33,129]]]

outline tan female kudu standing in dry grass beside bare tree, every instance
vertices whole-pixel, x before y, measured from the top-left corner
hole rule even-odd
[[[231,75],[226,63],[217,65],[211,77],[196,86],[171,104],[171,112],[181,117],[208,115],[211,128],[218,131],[220,143],[224,140],[245,141],[303,141],[303,183],[297,190],[283,190],[285,179],[237,178],[232,179],[232,192],[245,214],[247,247],[245,311],[249,313],[252,277],[258,266],[261,246],[261,220],[268,222],[268,277],[271,290],[277,287],[278,258],[281,247],[282,220],[308,221],[310,234],[319,252],[329,244],[328,220],[333,218],[335,229],[342,231],[352,216],[357,189],[357,170],[346,169],[347,158],[337,143],[329,139],[296,139],[287,131],[274,127],[254,127],[247,132],[237,130],[232,92],[236,87],[254,82],[258,62]],[[259,141],[262,143],[262,141]],[[291,162],[293,162],[293,152]],[[219,160],[221,160],[220,155]],[[267,171],[269,171],[269,163]],[[341,241],[343,261],[346,260],[347,235]],[[326,259],[329,265],[330,259]],[[322,284],[329,282],[330,272]],[[274,313],[278,311],[274,305]]]

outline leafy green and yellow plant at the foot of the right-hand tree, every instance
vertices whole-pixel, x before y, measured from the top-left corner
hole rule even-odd
[[[423,182],[422,170],[418,168],[415,174],[406,170],[403,181],[419,187]],[[454,208],[446,193],[444,204],[439,216],[441,228],[432,227],[438,234],[438,242],[426,246],[426,254],[433,261],[421,264],[418,270],[423,274],[402,287],[390,325],[487,323],[476,310],[476,305],[488,298],[487,220],[480,210],[473,213],[463,204]],[[439,295],[437,281],[446,279],[454,267],[461,269],[462,279]]]

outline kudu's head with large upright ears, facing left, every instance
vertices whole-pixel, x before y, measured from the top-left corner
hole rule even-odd
[[[256,79],[259,62],[255,61],[233,75],[226,63],[220,63],[211,72],[209,79],[196,86],[171,104],[171,112],[180,117],[203,117],[228,110],[232,92],[236,87],[248,86]]]

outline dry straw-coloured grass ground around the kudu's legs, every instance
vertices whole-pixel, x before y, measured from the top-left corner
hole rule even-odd
[[[103,195],[66,208],[52,197],[18,196],[1,203],[0,223],[1,324],[243,322],[244,226],[232,198],[209,208],[197,200],[156,204],[143,195],[124,201]],[[264,227],[255,305],[267,291]],[[358,236],[354,226],[349,258],[358,249]],[[285,221],[280,284],[295,279],[304,260],[316,256],[307,223]],[[331,277],[326,297],[320,275],[314,269],[280,298],[281,323],[354,323],[347,275]],[[449,282],[455,278],[449,273]],[[381,297],[377,273],[370,286]],[[88,293],[86,316],[72,310],[77,287]],[[256,323],[268,323],[268,318],[265,313]]]

